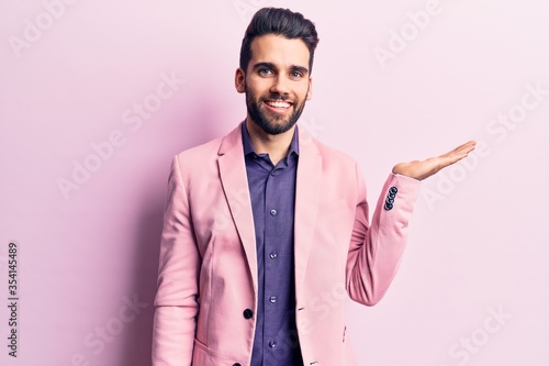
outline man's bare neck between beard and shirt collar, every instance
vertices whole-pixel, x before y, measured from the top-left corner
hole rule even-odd
[[[277,165],[278,162],[288,155],[295,125],[287,132],[271,135],[265,132],[256,123],[251,122],[249,118],[246,119],[245,123],[251,146],[254,146],[256,154],[269,154],[269,158],[273,165]]]

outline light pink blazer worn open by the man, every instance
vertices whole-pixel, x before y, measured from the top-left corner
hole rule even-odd
[[[391,174],[369,221],[355,160],[300,130],[296,323],[304,365],[355,365],[345,301],[372,306],[405,247],[419,181]],[[391,196],[391,188],[393,196]],[[393,201],[385,209],[385,200]],[[160,244],[154,366],[248,366],[257,256],[240,126],[173,158]],[[288,335],[288,342],[295,340]]]

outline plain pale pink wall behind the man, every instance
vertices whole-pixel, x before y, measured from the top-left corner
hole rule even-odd
[[[395,163],[482,142],[424,182],[385,299],[349,302],[359,364],[549,365],[549,5],[534,0],[2,0],[0,363],[149,365],[169,163],[245,117],[233,77],[262,5],[316,23],[300,125],[360,162],[371,203]],[[75,182],[77,165],[93,171]]]

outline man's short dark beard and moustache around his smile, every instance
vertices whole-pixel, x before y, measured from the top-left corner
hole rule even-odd
[[[248,109],[248,115],[251,121],[260,126],[266,133],[270,135],[278,135],[289,131],[298,122],[305,108],[305,100],[301,103],[294,102],[289,108],[293,108],[293,113],[289,117],[283,115],[272,115],[267,117],[265,111],[264,101],[265,100],[283,100],[287,101],[289,98],[280,93],[270,93],[267,97],[258,98],[254,92],[251,92],[248,87],[244,86],[244,91],[246,92],[246,108]],[[273,114],[273,113],[270,113]]]

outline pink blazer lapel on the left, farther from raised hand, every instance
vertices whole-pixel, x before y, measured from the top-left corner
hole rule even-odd
[[[217,164],[225,198],[240,236],[251,273],[254,290],[257,293],[256,234],[240,129],[242,123],[223,138]]]

